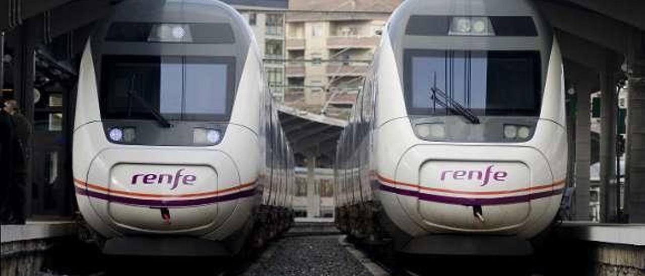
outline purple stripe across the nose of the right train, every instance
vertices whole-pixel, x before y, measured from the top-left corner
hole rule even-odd
[[[466,206],[475,206],[475,205],[502,205],[502,204],[514,204],[520,202],[528,202],[533,199],[541,199],[543,197],[551,197],[553,195],[559,195],[562,193],[560,190],[551,190],[540,193],[530,193],[528,195],[516,195],[513,197],[495,197],[491,199],[486,198],[466,198],[466,197],[446,197],[443,195],[431,195],[428,193],[421,193],[411,190],[402,190],[399,188],[394,188],[392,186],[381,184],[381,190],[390,193],[396,193],[397,195],[407,195],[409,197],[417,197],[422,201],[433,201],[441,202],[455,205],[466,205]]]

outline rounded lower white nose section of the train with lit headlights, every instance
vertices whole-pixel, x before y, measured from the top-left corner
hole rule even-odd
[[[89,170],[82,193],[124,233],[206,232],[230,216],[237,193],[248,192],[218,151],[105,150]]]

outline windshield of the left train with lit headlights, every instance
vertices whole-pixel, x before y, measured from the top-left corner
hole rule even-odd
[[[102,63],[103,119],[228,118],[234,95],[233,57],[104,55]]]

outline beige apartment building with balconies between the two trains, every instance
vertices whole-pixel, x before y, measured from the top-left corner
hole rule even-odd
[[[285,102],[346,119],[382,29],[402,0],[290,0]]]

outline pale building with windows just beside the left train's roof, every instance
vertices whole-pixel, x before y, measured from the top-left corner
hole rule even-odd
[[[288,0],[225,0],[237,9],[253,29],[255,40],[264,57],[264,71],[273,97],[283,101],[285,48],[285,12]]]

